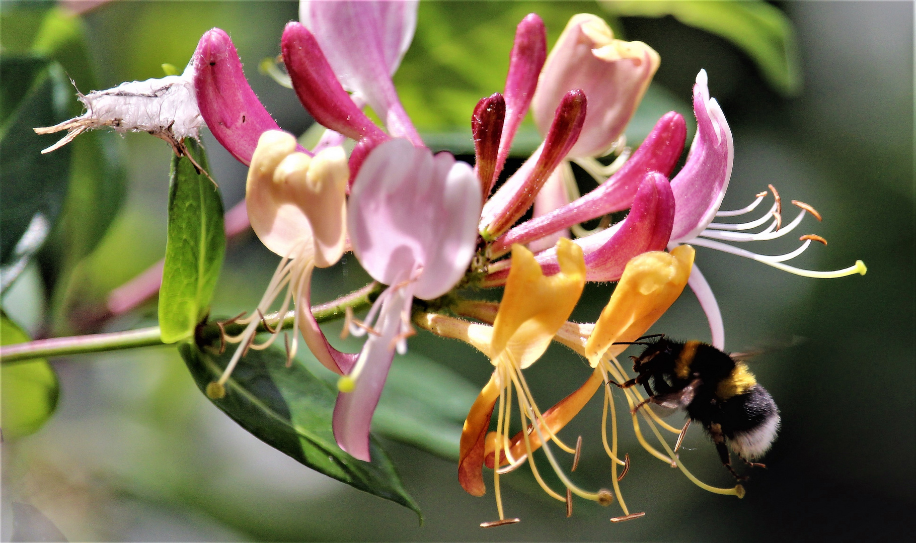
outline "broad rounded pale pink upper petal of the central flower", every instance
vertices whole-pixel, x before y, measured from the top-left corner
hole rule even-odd
[[[348,233],[376,281],[415,280],[417,297],[432,299],[463,277],[479,216],[480,185],[470,166],[398,138],[365,158],[350,194]]]

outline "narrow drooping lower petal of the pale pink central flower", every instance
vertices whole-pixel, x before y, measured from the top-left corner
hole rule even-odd
[[[354,375],[354,389],[337,395],[334,406],[334,439],[344,451],[365,462],[369,456],[369,429],[372,415],[376,411],[378,398],[382,395],[388,369],[394,359],[398,334],[403,330],[402,316],[409,314],[413,301],[412,288],[398,288],[383,293],[382,308],[376,326],[379,335],[370,334],[365,341],[357,364],[358,375]],[[354,372],[355,374],[355,372]]]

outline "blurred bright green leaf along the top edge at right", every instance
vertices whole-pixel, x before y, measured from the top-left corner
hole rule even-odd
[[[802,92],[802,69],[795,30],[789,18],[763,0],[638,2],[599,0],[616,16],[671,15],[683,24],[727,39],[757,62],[777,92]],[[649,44],[651,45],[651,44]]]

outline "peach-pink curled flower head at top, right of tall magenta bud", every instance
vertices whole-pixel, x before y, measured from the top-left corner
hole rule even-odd
[[[540,133],[547,133],[563,95],[582,89],[588,116],[569,156],[604,155],[627,127],[659,63],[645,43],[615,39],[602,18],[573,16],[540,72],[531,104]]]

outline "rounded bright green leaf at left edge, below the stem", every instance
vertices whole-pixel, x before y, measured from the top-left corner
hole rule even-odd
[[[25,331],[0,315],[0,343],[10,345],[29,341]],[[20,364],[3,364],[0,369],[3,410],[3,438],[15,440],[32,434],[44,425],[57,407],[60,388],[57,375],[45,359]]]

